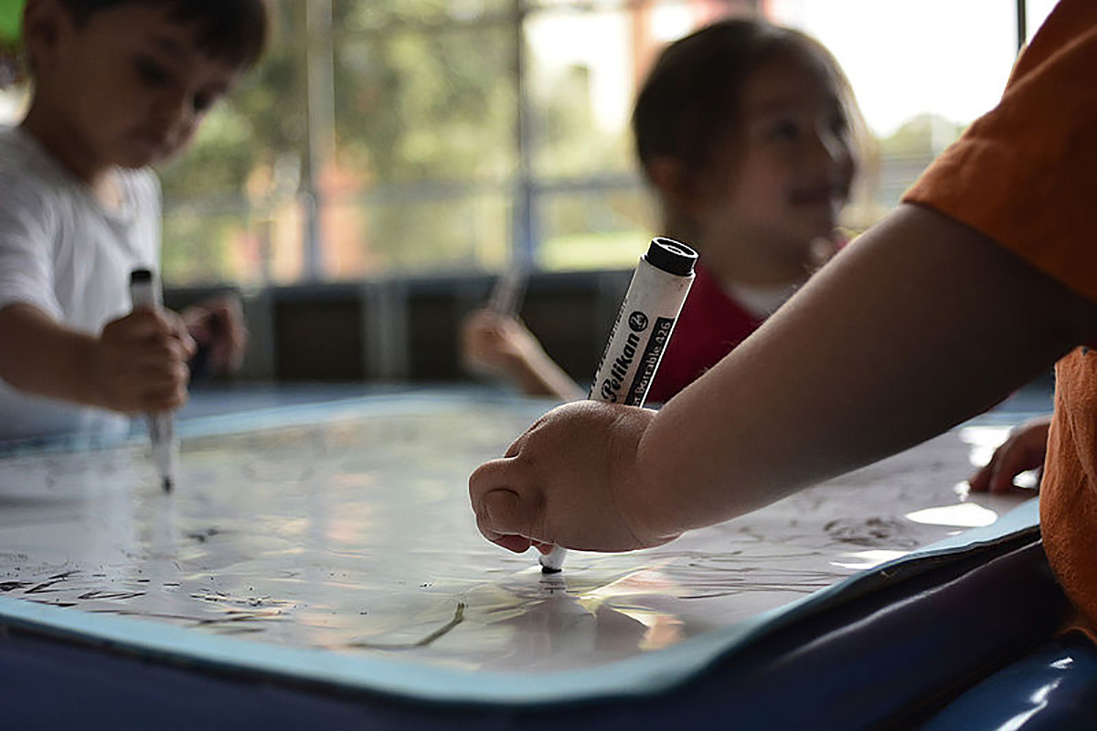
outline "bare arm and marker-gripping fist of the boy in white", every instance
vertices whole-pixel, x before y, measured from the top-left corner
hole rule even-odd
[[[126,413],[186,400],[193,342],[171,312],[136,310],[94,338],[32,305],[9,305],[0,310],[0,377],[29,393]]]

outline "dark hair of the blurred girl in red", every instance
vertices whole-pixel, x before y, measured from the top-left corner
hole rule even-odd
[[[800,59],[825,73],[838,91],[856,139],[863,122],[830,52],[799,31],[736,18],[679,38],[659,55],[632,115],[641,164],[666,156],[703,169],[714,148],[727,139],[726,130],[739,122],[747,79],[774,58]]]

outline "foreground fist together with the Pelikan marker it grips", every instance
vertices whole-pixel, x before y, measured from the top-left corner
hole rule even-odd
[[[621,473],[621,466],[634,460],[654,412],[606,404],[643,406],[693,283],[697,258],[677,241],[654,239],[625,293],[590,400],[551,411],[511,444],[502,459],[473,472],[470,496],[488,540],[516,552],[534,546],[542,552],[542,571],[555,573],[567,555],[561,544],[632,550],[675,537],[651,529],[653,522],[643,515],[645,501],[633,494],[643,492],[643,481]],[[542,430],[570,420],[577,429]],[[550,436],[542,438],[545,433]],[[618,436],[607,441],[599,436],[603,433]],[[539,470],[545,464],[565,478],[550,483]],[[627,494],[614,494],[614,484],[629,486]]]

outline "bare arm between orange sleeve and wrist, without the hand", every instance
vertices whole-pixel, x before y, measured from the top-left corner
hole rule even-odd
[[[634,478],[645,519],[677,534],[909,447],[1095,324],[1093,302],[905,206],[651,422]]]

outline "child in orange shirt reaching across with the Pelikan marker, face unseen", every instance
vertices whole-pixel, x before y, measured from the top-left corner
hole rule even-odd
[[[1002,102],[904,203],[660,411],[542,418],[470,479],[521,551],[672,540],[945,431],[1056,364],[1043,545],[1097,627],[1097,3],[1061,0]]]

